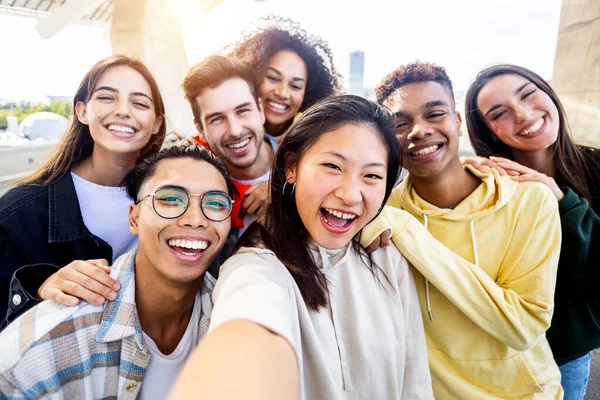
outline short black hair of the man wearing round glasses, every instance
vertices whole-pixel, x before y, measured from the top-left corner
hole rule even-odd
[[[217,171],[223,175],[227,184],[227,193],[230,197],[237,195],[237,189],[233,186],[231,176],[227,171],[227,167],[223,160],[215,156],[204,147],[199,146],[173,146],[145,158],[141,163],[136,165],[123,178],[122,185],[125,186],[127,195],[134,201],[138,201],[140,188],[148,179],[150,179],[156,171],[157,164],[162,160],[173,160],[178,158],[191,158],[198,161],[205,161],[215,167]],[[198,177],[198,179],[202,179]]]

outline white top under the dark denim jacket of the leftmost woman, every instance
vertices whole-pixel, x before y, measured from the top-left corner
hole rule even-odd
[[[133,250],[138,237],[129,231],[129,205],[133,200],[123,186],[102,186],[86,181],[71,172],[83,223],[92,234],[113,249],[112,264],[121,255]]]

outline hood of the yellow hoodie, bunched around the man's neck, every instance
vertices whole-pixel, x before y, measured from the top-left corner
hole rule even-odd
[[[410,174],[392,192],[391,200],[413,215],[427,215],[429,218],[449,221],[476,221],[505,206],[517,189],[518,182],[507,175],[500,176],[495,169],[486,173],[479,172],[470,165],[465,166],[465,169],[481,179],[481,185],[455,208],[438,208],[423,200],[413,190]]]

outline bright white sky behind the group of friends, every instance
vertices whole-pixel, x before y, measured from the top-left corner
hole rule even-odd
[[[349,53],[362,50],[366,87],[421,60],[446,67],[461,91],[480,69],[499,62],[551,79],[560,8],[561,0],[224,0],[201,20],[179,11],[190,66],[237,41],[255,18],[277,14],[329,42],[346,85]],[[0,14],[0,99],[72,95],[87,70],[111,53],[103,28],[74,24],[42,39],[36,23]]]

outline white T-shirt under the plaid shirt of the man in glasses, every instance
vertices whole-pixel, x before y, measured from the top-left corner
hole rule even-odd
[[[177,348],[169,355],[161,353],[156,343],[143,332],[144,342],[150,351],[150,365],[144,375],[139,400],[163,400],[168,397],[179,371],[196,348],[201,304],[202,300],[198,292],[188,327]]]

